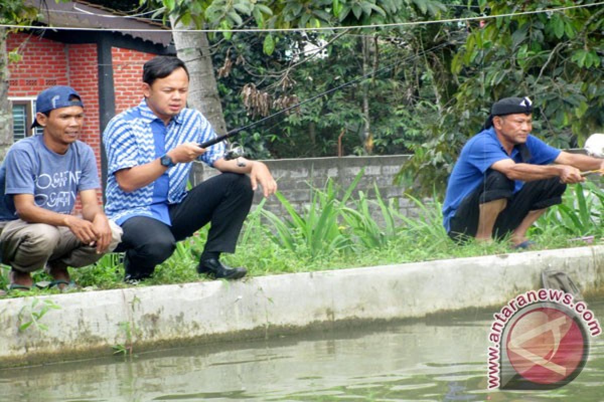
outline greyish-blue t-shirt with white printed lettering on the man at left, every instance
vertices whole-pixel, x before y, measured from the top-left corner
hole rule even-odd
[[[71,143],[61,155],[48,149],[41,135],[19,140],[0,167],[0,221],[18,218],[14,194],[32,194],[37,206],[68,214],[77,193],[99,187],[94,152],[86,143]]]

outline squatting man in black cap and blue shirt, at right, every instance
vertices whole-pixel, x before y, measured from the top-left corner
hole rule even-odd
[[[528,248],[528,228],[561,203],[567,183],[604,160],[570,154],[530,134],[532,102],[504,98],[493,104],[484,130],[463,149],[449,177],[443,224],[456,241],[490,241],[510,234],[512,247]]]

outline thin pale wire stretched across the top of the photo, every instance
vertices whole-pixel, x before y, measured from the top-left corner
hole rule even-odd
[[[515,17],[531,14],[543,14],[543,13],[557,13],[560,11],[573,10],[576,8],[587,8],[595,7],[598,5],[604,5],[604,1],[592,3],[592,4],[580,4],[570,5],[567,7],[559,8],[544,8],[542,10],[533,11],[521,11],[518,13],[506,13],[476,17],[460,17],[460,18],[448,18],[448,19],[437,19],[437,20],[426,20],[426,21],[413,21],[413,22],[396,22],[393,24],[371,24],[371,25],[353,25],[349,27],[319,27],[319,28],[245,28],[245,29],[211,29],[211,30],[190,30],[190,29],[179,29],[172,28],[172,32],[205,32],[205,33],[225,33],[225,32],[248,32],[248,33],[271,33],[271,32],[313,32],[313,31],[334,31],[334,30],[351,30],[361,28],[397,28],[397,27],[413,27],[417,25],[430,25],[430,24],[442,24],[445,22],[467,22],[476,20],[487,20],[496,19],[503,17]],[[0,28],[19,28],[19,29],[31,29],[31,30],[56,30],[56,31],[123,31],[123,32],[165,32],[166,30],[158,29],[138,29],[138,28],[82,28],[82,27],[40,27],[37,25],[13,25],[13,24],[0,24]]]

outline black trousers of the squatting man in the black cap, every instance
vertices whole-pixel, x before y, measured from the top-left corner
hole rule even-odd
[[[545,209],[562,202],[566,184],[557,177],[528,181],[519,192],[513,193],[514,181],[494,169],[486,172],[483,183],[461,201],[451,218],[449,237],[461,242],[476,236],[480,204],[507,199],[506,208],[495,221],[493,237],[501,239],[515,230],[530,211]]]

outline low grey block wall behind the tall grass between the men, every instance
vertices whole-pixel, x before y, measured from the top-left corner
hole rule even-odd
[[[365,168],[365,174],[356,187],[355,197],[358,190],[373,198],[373,183],[384,199],[394,198],[399,212],[405,215],[413,215],[414,204],[403,197],[405,189],[402,186],[394,186],[394,176],[399,172],[400,166],[408,160],[410,155],[390,156],[355,156],[355,157],[327,157],[327,158],[303,158],[303,159],[278,159],[263,161],[271,170],[271,174],[277,180],[279,191],[298,210],[310,203],[310,186],[323,188],[329,178],[332,178],[344,189],[354,180],[356,174]],[[210,168],[204,163],[196,163],[193,169],[193,184],[200,183],[218,171]],[[254,205],[262,199],[262,194],[257,192],[254,197]],[[271,197],[265,204],[265,209],[274,212],[278,216],[287,216],[278,199]]]

